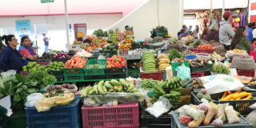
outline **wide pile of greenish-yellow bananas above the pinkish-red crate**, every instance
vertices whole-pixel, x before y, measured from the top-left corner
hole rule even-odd
[[[134,93],[138,90],[134,87],[134,84],[127,83],[125,79],[120,78],[119,81],[111,79],[110,81],[100,81],[94,86],[86,86],[82,89],[81,98],[85,98],[87,95],[101,94],[105,95],[107,92],[122,92],[122,93]]]

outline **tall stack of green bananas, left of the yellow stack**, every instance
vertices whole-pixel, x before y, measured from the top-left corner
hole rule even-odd
[[[156,72],[156,62],[154,60],[154,54],[146,52],[142,55],[142,70],[145,72]]]

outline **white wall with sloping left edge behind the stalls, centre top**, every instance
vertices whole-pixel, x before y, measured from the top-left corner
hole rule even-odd
[[[179,22],[179,0],[159,0],[160,26],[166,26],[170,36],[177,37],[180,30]],[[119,27],[120,31],[125,26],[134,26],[134,37],[136,40],[150,38],[150,30],[158,26],[158,1],[150,0],[146,4],[134,10],[119,22],[110,26],[109,29]]]

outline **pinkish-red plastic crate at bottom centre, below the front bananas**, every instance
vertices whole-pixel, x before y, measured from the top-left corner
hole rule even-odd
[[[82,106],[83,128],[137,128],[139,127],[138,103],[118,106]]]

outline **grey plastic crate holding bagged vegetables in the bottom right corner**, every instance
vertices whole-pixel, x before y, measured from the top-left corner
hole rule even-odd
[[[182,126],[178,120],[179,116],[178,114],[175,114],[174,111],[171,112],[171,127],[172,128],[188,128],[188,126]],[[228,122],[225,122],[223,127],[226,128],[236,128],[236,127],[244,127],[244,128],[252,128],[253,125],[248,122],[246,120],[246,118],[244,118],[243,116],[239,116],[240,122],[235,122],[232,124],[229,124]],[[202,128],[210,128],[210,127],[214,127],[214,126],[198,126],[198,127],[202,127]]]

